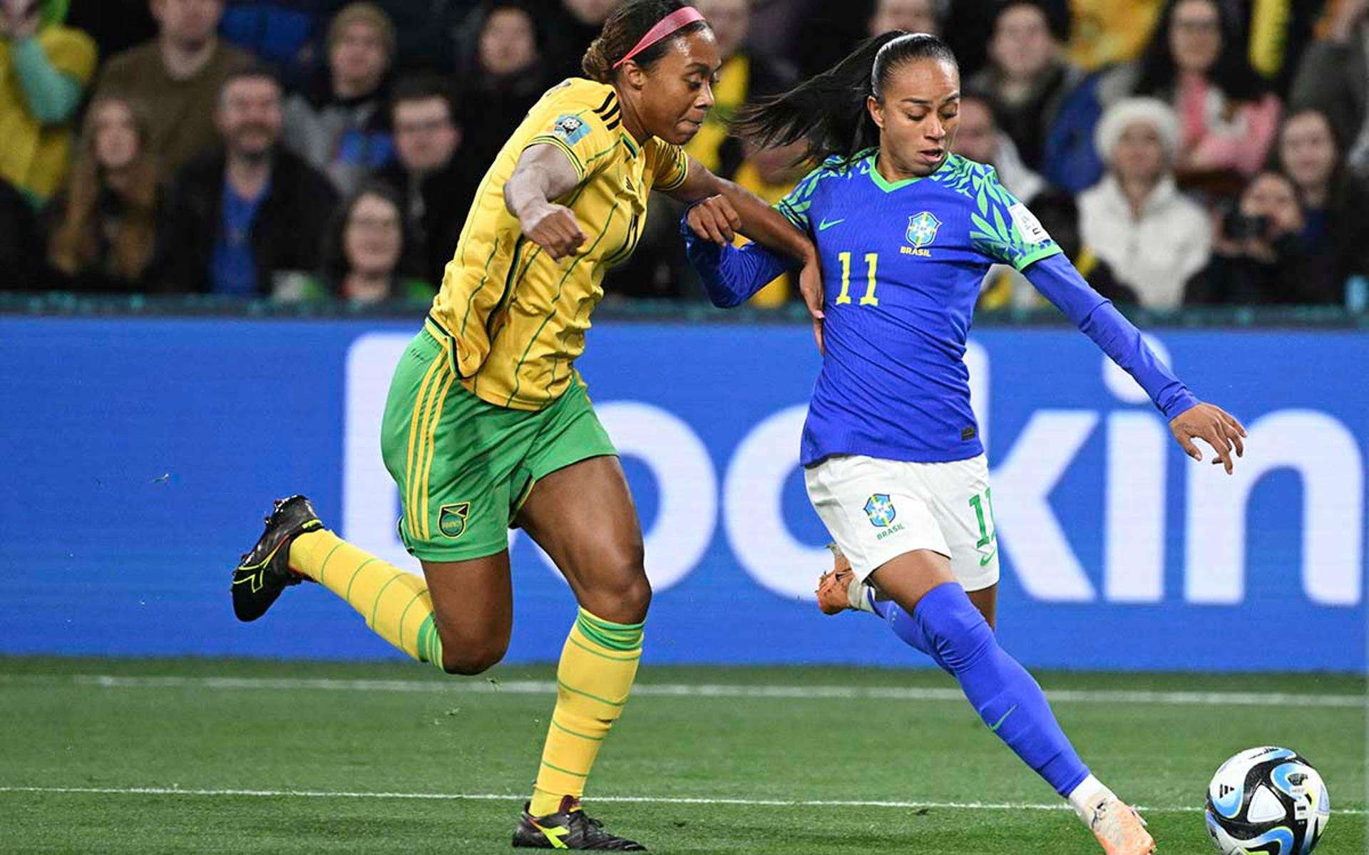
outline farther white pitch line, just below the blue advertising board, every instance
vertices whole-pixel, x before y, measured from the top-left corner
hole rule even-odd
[[[114,674],[23,676],[0,674],[0,683],[27,680],[70,681],[100,688],[208,688],[208,689],[319,689],[344,692],[507,692],[511,695],[552,695],[550,680],[334,680],[329,677],[120,677]],[[858,687],[858,685],[726,685],[638,683],[634,698],[769,698],[826,700],[965,700],[957,688]],[[1146,706],[1298,706],[1366,709],[1369,695],[1318,695],[1295,692],[1161,692],[1118,689],[1054,689],[1053,703],[1124,703]]]

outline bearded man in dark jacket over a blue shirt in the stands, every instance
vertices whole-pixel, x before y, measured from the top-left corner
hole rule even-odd
[[[261,67],[223,83],[215,120],[222,150],[181,170],[157,235],[160,290],[270,294],[274,276],[318,268],[333,185],[278,145],[281,85]]]

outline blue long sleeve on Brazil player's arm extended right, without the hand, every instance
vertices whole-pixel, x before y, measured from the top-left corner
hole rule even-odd
[[[1069,259],[1064,254],[1051,256],[1023,272],[1046,300],[1055,304],[1112,361],[1136,379],[1165,419],[1173,419],[1198,404],[1188,387],[1155,358],[1140,331],[1123,317],[1112,301],[1088,287]]]

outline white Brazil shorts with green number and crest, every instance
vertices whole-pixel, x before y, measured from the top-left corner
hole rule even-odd
[[[950,558],[967,591],[998,581],[988,461],[917,464],[838,454],[804,471],[808,498],[862,581],[913,550]]]

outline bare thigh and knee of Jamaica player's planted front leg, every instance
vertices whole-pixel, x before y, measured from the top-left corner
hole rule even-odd
[[[591,457],[541,479],[519,524],[546,550],[586,611],[617,624],[646,617],[652,586],[642,529],[616,457]]]

